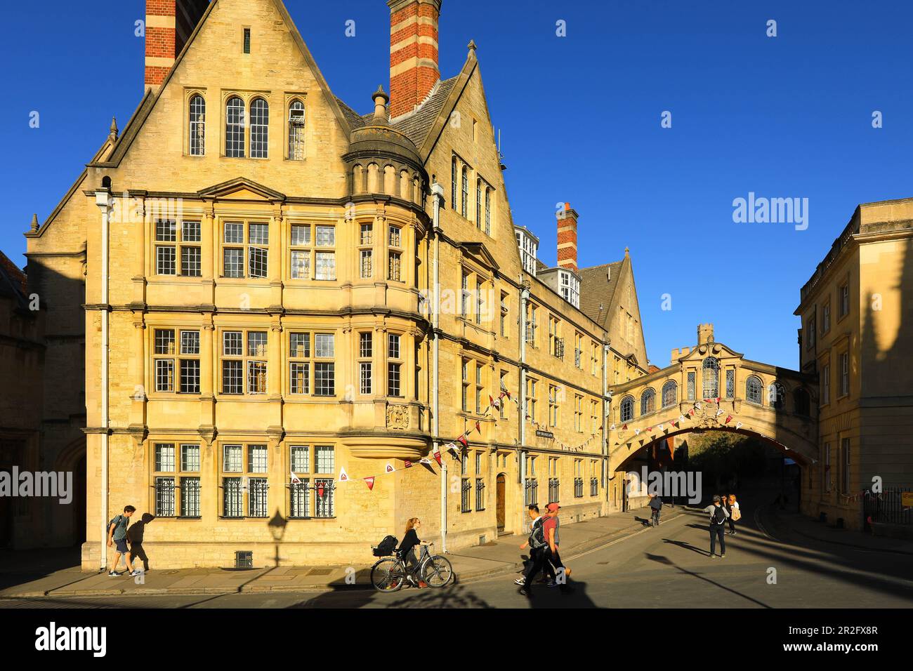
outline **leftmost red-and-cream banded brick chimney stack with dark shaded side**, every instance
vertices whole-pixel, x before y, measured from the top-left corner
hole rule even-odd
[[[208,0],[146,0],[146,89],[162,85],[208,5]]]

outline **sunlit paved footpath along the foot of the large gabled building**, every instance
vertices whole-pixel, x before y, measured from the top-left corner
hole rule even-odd
[[[664,522],[682,514],[684,508],[663,510]],[[572,560],[582,553],[646,529],[648,508],[613,513],[603,518],[561,525],[561,557]],[[485,545],[464,548],[446,557],[453,565],[456,583],[478,581],[522,570],[519,545],[526,537],[500,536]],[[143,596],[241,594],[265,592],[332,592],[342,586],[370,586],[371,563],[352,566],[278,566],[251,570],[154,568],[141,578],[110,577],[107,572],[81,571],[79,565],[56,568],[40,563],[40,554],[5,557],[0,573],[0,599],[84,596]],[[17,560],[17,561],[16,561]],[[58,563],[60,563],[58,561]],[[66,561],[64,561],[66,563]],[[18,565],[16,565],[18,564]],[[121,563],[121,568],[122,568]]]

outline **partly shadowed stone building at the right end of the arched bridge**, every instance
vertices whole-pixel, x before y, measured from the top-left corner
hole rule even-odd
[[[859,205],[795,311],[801,368],[820,391],[803,511],[850,529],[865,523],[864,490],[913,489],[911,221],[911,198]]]

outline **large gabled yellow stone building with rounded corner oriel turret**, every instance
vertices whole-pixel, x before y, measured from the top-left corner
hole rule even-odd
[[[568,204],[538,260],[476,46],[441,79],[440,0],[388,5],[390,93],[350,107],[280,0],[147,4],[139,107],[26,234],[47,356],[85,362],[84,568],[126,504],[160,567],[267,563],[277,512],[283,561],[320,564],[411,517],[458,550],[530,502],[616,505],[607,385],[647,366],[631,259],[578,268]]]

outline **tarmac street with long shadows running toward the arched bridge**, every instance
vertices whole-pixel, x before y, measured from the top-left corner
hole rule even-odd
[[[725,558],[708,556],[707,516],[699,508],[679,507],[674,512],[666,508],[664,521],[656,528],[644,526],[644,511],[634,511],[626,514],[627,526],[601,538],[583,540],[578,529],[577,540],[582,542],[573,544],[572,534],[565,531],[584,525],[567,525],[561,529],[562,539],[568,539],[561,554],[572,568],[571,593],[536,584],[530,597],[520,595],[513,582],[519,577],[519,564],[509,561],[509,557],[519,559],[520,540],[509,537],[496,546],[472,549],[468,554],[474,556],[466,559],[452,556],[461,580],[441,590],[381,594],[362,581],[352,585],[339,580],[323,586],[321,592],[288,586],[233,593],[92,596],[67,595],[62,589],[50,595],[16,597],[14,588],[3,592],[0,607],[865,609],[913,605],[909,570],[913,543],[828,529],[770,505],[755,507],[748,497],[740,501],[745,516],[738,533],[726,535]],[[461,572],[460,566],[472,566],[474,571]],[[147,584],[153,577],[154,571]],[[251,584],[257,584],[265,577],[268,574],[248,573],[244,581],[254,578]]]

